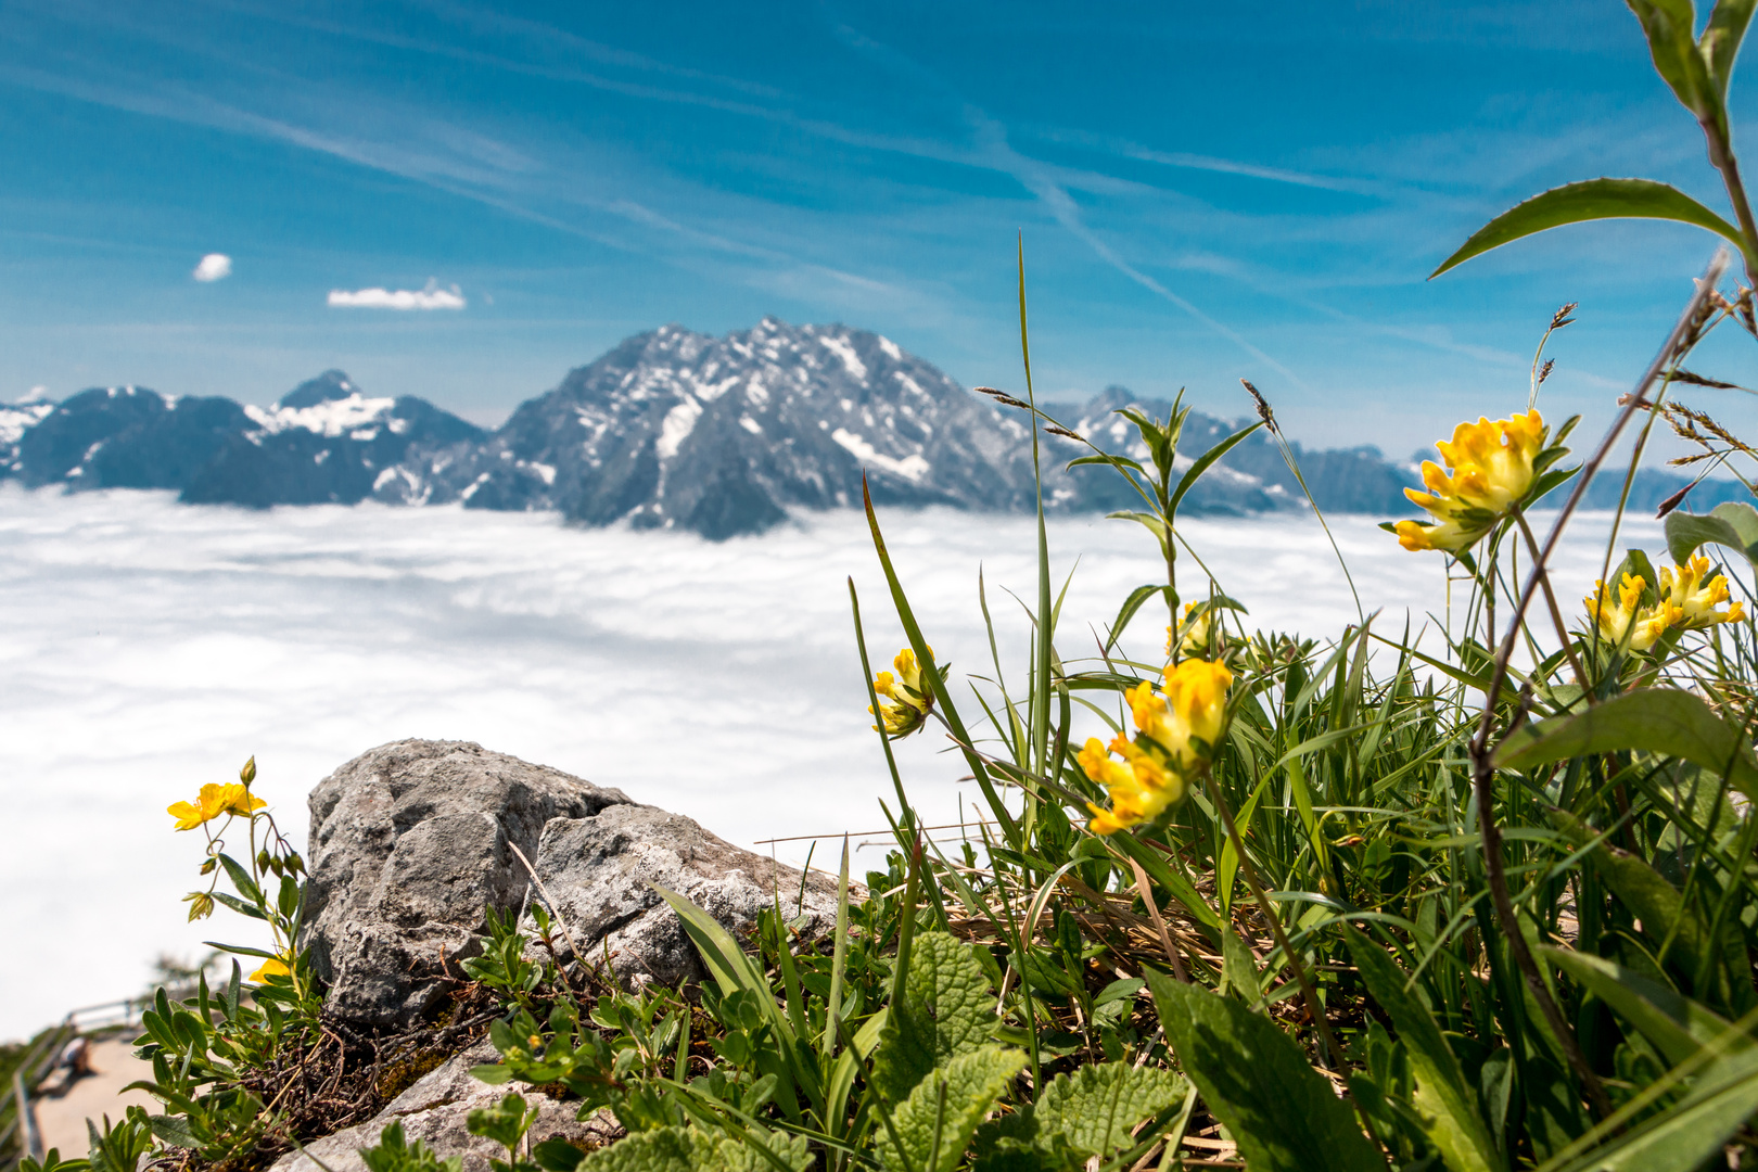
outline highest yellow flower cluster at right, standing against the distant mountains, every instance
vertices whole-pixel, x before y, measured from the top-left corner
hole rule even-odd
[[[1435,460],[1422,462],[1427,492],[1405,488],[1435,524],[1398,522],[1398,543],[1406,550],[1457,553],[1507,517],[1533,483],[1533,460],[1544,450],[1547,429],[1538,411],[1505,420],[1478,418],[1452,429],[1435,448],[1447,460],[1449,474]]]

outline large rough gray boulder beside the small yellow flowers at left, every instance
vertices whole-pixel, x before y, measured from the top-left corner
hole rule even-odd
[[[517,850],[515,850],[517,847]],[[679,891],[738,933],[779,900],[807,930],[835,922],[835,884],[740,850],[687,817],[622,791],[487,752],[469,742],[380,745],[311,791],[311,877],[301,944],[329,1009],[371,1026],[427,1014],[455,961],[482,947],[483,910],[527,910],[536,870],[582,959],[622,984],[701,975]],[[566,944],[559,944],[563,956]]]

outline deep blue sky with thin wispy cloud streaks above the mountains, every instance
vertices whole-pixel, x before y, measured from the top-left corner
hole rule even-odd
[[[1398,455],[1524,406],[1565,300],[1545,406],[1603,418],[1712,251],[1605,223],[1426,281],[1484,220],[1596,174],[1723,206],[1616,0],[0,0],[0,158],[7,399],[336,365],[498,422],[628,334],[770,313],[1018,387],[1023,232],[1041,394],[1234,415],[1245,376]]]

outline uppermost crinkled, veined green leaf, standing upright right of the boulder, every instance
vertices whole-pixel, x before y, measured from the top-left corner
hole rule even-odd
[[[904,1102],[935,1067],[979,1049],[995,1028],[995,995],[983,966],[970,945],[946,931],[916,937],[902,996],[890,1010],[872,1074],[890,1103]]]

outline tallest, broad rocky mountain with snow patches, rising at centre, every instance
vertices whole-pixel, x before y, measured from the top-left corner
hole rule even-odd
[[[471,508],[557,508],[710,538],[789,506],[875,501],[1011,510],[1027,503],[1020,420],[897,343],[765,318],[710,337],[640,334],[524,402],[445,480]]]

